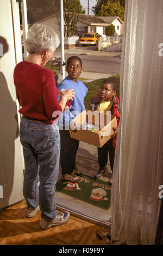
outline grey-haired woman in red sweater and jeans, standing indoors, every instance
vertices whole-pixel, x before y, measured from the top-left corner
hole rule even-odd
[[[58,102],[54,74],[43,67],[58,45],[58,35],[51,28],[34,24],[26,40],[29,55],[14,70],[14,84],[23,115],[20,139],[26,166],[23,184],[26,216],[32,218],[41,210],[42,229],[61,225],[70,217],[69,212],[56,211],[55,183],[60,156],[58,118],[74,93],[73,90],[61,93]]]

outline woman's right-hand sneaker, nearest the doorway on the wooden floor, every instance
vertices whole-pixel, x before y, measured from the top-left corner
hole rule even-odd
[[[40,221],[40,228],[49,229],[49,228],[55,227],[57,225],[62,225],[65,222],[67,222],[69,218],[70,218],[69,212],[57,211],[57,216],[55,217],[55,219],[53,219],[53,221],[48,222],[48,221],[46,221],[46,219],[42,218]]]

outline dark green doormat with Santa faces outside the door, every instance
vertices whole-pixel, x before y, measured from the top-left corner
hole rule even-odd
[[[56,190],[105,210],[110,207],[111,186],[87,175],[83,175],[82,181],[78,183],[61,178],[56,184]]]

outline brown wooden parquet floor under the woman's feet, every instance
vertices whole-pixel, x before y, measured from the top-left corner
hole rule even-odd
[[[0,245],[110,245],[96,236],[97,230],[108,232],[104,227],[71,216],[63,225],[42,230],[40,211],[30,219],[25,212],[25,200],[0,212]]]

